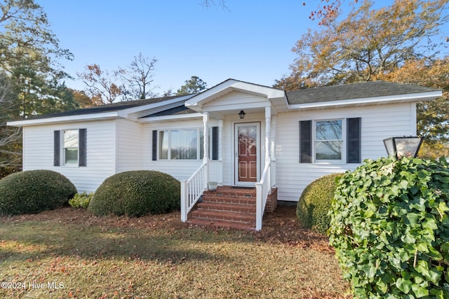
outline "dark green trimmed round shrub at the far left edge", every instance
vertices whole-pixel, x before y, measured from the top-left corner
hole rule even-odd
[[[59,172],[16,172],[0,180],[0,214],[36,214],[56,209],[75,194],[74,184]]]

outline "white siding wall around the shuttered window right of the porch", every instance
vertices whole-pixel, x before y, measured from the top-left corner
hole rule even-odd
[[[361,118],[361,160],[387,155],[383,139],[416,134],[415,104],[360,106],[344,109],[279,113],[276,127],[276,186],[278,200],[299,200],[302,190],[321,176],[355,169],[358,163],[299,162],[300,120]]]

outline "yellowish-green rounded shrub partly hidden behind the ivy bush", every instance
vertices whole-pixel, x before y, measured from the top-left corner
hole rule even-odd
[[[321,176],[302,191],[296,206],[296,217],[303,228],[311,228],[321,233],[328,231],[330,202],[332,202],[337,187],[335,180],[339,176],[342,174]]]

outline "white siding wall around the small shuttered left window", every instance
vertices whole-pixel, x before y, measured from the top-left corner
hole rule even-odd
[[[53,166],[55,130],[87,130],[87,167]],[[115,173],[114,120],[23,128],[23,170],[49,169],[67,176],[79,192],[93,192]]]

